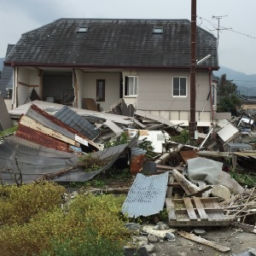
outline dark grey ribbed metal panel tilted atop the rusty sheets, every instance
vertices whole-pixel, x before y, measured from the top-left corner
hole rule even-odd
[[[94,140],[100,134],[100,130],[96,129],[95,125],[91,125],[86,119],[67,106],[61,108],[54,116],[90,140]]]

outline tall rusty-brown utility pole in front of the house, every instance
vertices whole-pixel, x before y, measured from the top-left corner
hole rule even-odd
[[[189,135],[195,139],[196,0],[191,0],[191,65]]]

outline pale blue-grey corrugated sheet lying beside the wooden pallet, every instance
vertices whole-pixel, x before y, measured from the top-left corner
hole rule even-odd
[[[122,206],[122,212],[130,218],[159,213],[166,199],[168,172],[146,177],[137,174]]]

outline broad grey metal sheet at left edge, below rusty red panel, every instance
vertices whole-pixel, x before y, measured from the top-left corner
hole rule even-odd
[[[22,172],[23,183],[30,183],[46,173],[55,173],[74,166],[79,160],[75,154],[38,146],[19,137],[4,139],[0,144],[0,152],[3,183],[15,183],[14,175],[19,173],[15,159]]]

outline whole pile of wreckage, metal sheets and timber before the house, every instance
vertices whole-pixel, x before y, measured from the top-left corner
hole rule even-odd
[[[168,240],[183,236],[225,253],[230,248],[183,229],[234,225],[255,232],[255,113],[218,121],[191,140],[179,125],[125,102],[108,113],[39,101],[21,107],[10,112],[18,120],[15,135],[0,144],[1,183],[84,182],[119,162],[133,183],[90,192],[128,192],[122,212],[165,215],[168,228],[178,229]],[[238,183],[233,177],[241,174]]]

